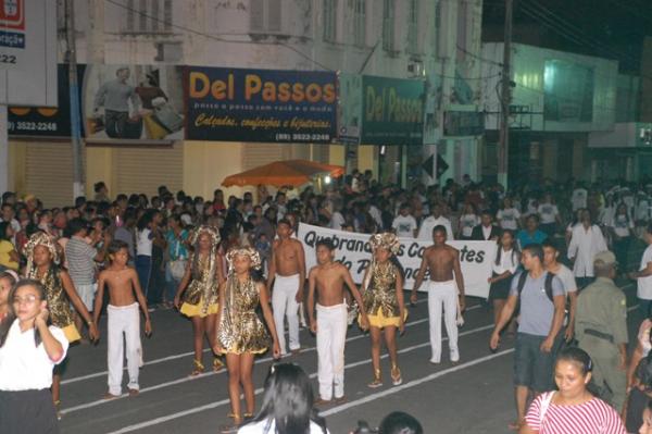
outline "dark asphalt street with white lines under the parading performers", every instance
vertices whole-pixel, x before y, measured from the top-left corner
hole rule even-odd
[[[630,339],[642,320],[635,307],[635,285],[619,282],[630,306]],[[512,392],[513,339],[503,338],[493,354],[488,348],[492,314],[477,299],[469,299],[460,328],[461,361],[448,360],[444,344],[442,362],[429,363],[427,303],[425,294],[410,309],[406,331],[399,342],[403,384],[392,386],[389,362],[383,359],[385,385],[371,389],[369,337],[351,326],[346,346],[346,396],[348,401],[321,408],[334,434],[348,433],[358,420],[377,425],[390,411],[404,410],[424,424],[426,433],[506,433],[514,418]],[[61,430],[82,433],[215,433],[227,423],[229,412],[227,375],[206,372],[189,377],[192,369],[192,332],[188,320],[175,310],[152,313],[151,338],[142,337],[145,365],[140,371],[140,395],[103,400],[106,392],[106,342],[71,349],[62,385]],[[105,333],[105,317],[101,321]],[[446,336],[446,333],[443,334]],[[284,361],[299,363],[317,389],[315,338],[301,330],[302,350]],[[206,349],[204,364],[212,356]],[[269,355],[256,359],[254,384],[260,398],[272,363]],[[126,372],[123,384],[126,387]]]

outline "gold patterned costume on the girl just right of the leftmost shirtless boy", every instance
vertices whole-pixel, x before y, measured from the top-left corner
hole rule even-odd
[[[209,314],[209,308],[217,303],[218,285],[215,278],[216,260],[213,252],[206,257],[197,258],[197,270],[192,270],[192,280],[184,293],[184,302],[188,305],[200,305],[201,315]],[[195,268],[195,256],[190,257],[190,264]]]

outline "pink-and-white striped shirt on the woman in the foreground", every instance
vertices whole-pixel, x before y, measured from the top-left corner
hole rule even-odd
[[[577,406],[550,402],[541,418],[541,404],[552,393],[539,395],[530,405],[525,417],[530,430],[539,434],[627,434],[616,410],[599,398]]]

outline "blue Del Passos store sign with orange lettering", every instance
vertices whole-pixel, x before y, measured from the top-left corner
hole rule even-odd
[[[337,76],[329,72],[187,66],[190,140],[330,142]]]

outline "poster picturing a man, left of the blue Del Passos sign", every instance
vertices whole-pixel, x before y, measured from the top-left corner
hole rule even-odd
[[[82,87],[86,139],[183,139],[181,77],[181,66],[87,65]]]

